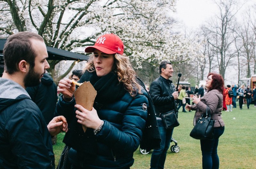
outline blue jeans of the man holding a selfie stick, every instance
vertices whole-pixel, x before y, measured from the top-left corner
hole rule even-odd
[[[160,131],[160,135],[162,138],[160,148],[154,149],[151,155],[150,168],[151,169],[160,169],[164,168],[164,162],[166,158],[167,150],[169,149],[171,138],[172,138],[172,129],[165,129],[163,120],[158,120],[158,127]]]

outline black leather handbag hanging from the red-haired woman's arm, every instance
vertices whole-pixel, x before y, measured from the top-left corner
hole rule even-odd
[[[195,127],[190,132],[191,137],[198,140],[213,139],[214,120],[211,118],[211,114],[208,114],[209,111],[207,110],[208,107],[206,109],[206,113],[203,113],[202,116],[196,121]]]

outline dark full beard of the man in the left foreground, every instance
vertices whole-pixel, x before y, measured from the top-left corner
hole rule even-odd
[[[28,74],[24,78],[24,85],[25,87],[34,87],[41,83],[41,76],[42,74],[39,74],[34,71],[34,68],[29,69]]]

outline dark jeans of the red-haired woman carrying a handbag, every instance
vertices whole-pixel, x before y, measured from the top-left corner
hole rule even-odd
[[[214,127],[213,140],[200,140],[202,151],[203,169],[218,169],[220,165],[217,148],[219,137],[223,134],[225,127]]]

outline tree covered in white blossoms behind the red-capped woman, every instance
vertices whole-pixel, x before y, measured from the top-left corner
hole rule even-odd
[[[37,32],[47,46],[84,51],[104,33],[115,33],[125,53],[141,68],[143,62],[184,62],[196,57],[196,46],[173,33],[176,0],[0,0],[0,37],[20,31]],[[50,72],[60,60],[49,60]],[[59,77],[65,77],[75,62]]]

